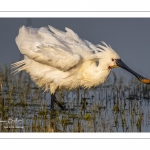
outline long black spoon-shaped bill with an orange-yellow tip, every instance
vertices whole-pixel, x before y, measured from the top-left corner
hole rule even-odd
[[[141,82],[145,83],[145,84],[150,84],[150,80],[139,75],[138,73],[134,72],[132,69],[130,69],[121,59],[116,59],[116,64],[117,66],[129,71],[130,73],[132,73],[133,75],[135,75]]]

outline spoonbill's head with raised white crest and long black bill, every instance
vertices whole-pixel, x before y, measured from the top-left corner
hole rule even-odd
[[[138,73],[134,72],[132,69],[130,69],[121,59],[120,56],[107,44],[103,42],[104,46],[102,45],[97,45],[98,51],[100,51],[99,56],[100,56],[100,61],[101,64],[108,69],[113,69],[116,67],[121,67],[133,75],[135,75],[139,81],[145,83],[145,84],[150,84],[150,80],[139,75]]]

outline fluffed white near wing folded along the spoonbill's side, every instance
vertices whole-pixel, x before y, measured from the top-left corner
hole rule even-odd
[[[60,34],[60,33],[58,33]],[[83,58],[66,45],[65,39],[46,28],[21,27],[16,43],[20,52],[29,59],[67,71],[79,64]]]

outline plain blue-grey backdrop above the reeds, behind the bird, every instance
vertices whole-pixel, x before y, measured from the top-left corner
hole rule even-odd
[[[71,28],[81,38],[93,44],[109,44],[134,71],[150,78],[149,18],[0,18],[0,65],[10,65],[20,59],[15,37],[22,25],[42,27],[52,25],[60,30]],[[131,77],[123,69],[114,72]]]

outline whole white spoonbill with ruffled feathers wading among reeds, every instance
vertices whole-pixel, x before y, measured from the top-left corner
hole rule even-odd
[[[39,29],[22,26],[16,37],[24,60],[12,64],[17,68],[13,73],[25,70],[39,87],[50,90],[52,109],[54,102],[64,109],[55,97],[57,89],[97,86],[107,79],[112,68],[118,66],[150,84],[149,79],[127,67],[106,43],[93,45],[71,29],[65,29],[66,32],[52,26]]]

